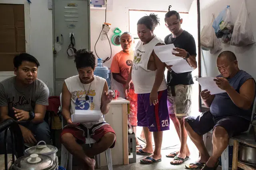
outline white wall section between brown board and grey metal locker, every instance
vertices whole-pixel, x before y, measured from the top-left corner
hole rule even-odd
[[[47,0],[1,0],[0,3],[24,4],[26,52],[40,63],[38,78],[53,89],[52,53],[52,10],[48,10]],[[14,75],[13,72],[0,72],[0,81]]]

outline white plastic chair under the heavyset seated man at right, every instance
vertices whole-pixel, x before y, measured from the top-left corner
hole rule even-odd
[[[253,120],[254,114],[256,114],[256,98],[254,99],[254,103],[253,103],[253,106],[252,106],[251,121]],[[248,133],[251,128],[252,128],[252,125],[250,124],[248,130],[243,132],[243,133]],[[212,130],[209,131],[208,133],[212,133]],[[206,146],[207,134],[204,134],[203,140],[204,140],[204,145]],[[230,140],[229,140],[229,143],[230,143]],[[228,170],[228,167],[229,167],[229,163],[228,163],[228,147],[221,154],[221,164],[222,164],[221,165],[222,166],[222,170]]]

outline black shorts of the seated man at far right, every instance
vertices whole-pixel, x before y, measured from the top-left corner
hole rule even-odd
[[[237,116],[214,117],[210,111],[200,116],[190,116],[185,119],[198,135],[204,135],[216,126],[221,126],[228,132],[228,136],[238,135],[248,130],[250,121]]]

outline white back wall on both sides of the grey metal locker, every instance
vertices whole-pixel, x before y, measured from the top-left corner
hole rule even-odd
[[[25,4],[27,0],[1,0],[1,3],[8,4]],[[188,12],[192,0],[162,0],[161,3],[155,0],[113,0],[113,10],[107,12],[107,22],[111,23],[110,38],[113,31],[119,27],[122,32],[129,31],[128,9],[138,10],[160,10],[167,11],[168,6],[172,5],[172,10],[179,12]],[[53,54],[52,54],[52,10],[48,10],[47,0],[32,0],[25,11],[26,24],[26,41],[28,47],[26,51],[34,55],[40,62],[38,78],[44,82],[48,81],[48,86],[53,88]],[[94,45],[101,31],[101,25],[104,23],[104,10],[91,10],[91,50],[94,51]],[[112,44],[112,43],[111,43]],[[99,41],[97,53],[100,58],[106,58],[110,55],[108,41]],[[118,53],[121,47],[112,45],[112,56]],[[104,63],[110,67],[111,60]],[[0,81],[13,75],[12,72],[0,72]],[[112,79],[113,80],[113,79]],[[114,89],[122,90],[122,86],[115,81],[112,84]],[[117,87],[119,86],[119,87]]]

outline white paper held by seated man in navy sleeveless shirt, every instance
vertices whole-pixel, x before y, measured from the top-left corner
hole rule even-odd
[[[211,94],[218,94],[218,93],[224,93],[226,92],[225,90],[221,90],[216,82],[213,81],[213,77],[201,77],[201,78],[196,78],[198,83],[202,86],[202,90],[207,89],[208,91],[211,92]]]

